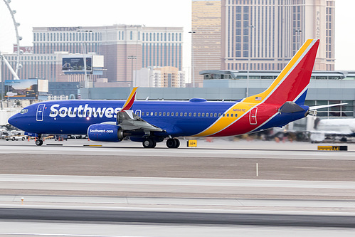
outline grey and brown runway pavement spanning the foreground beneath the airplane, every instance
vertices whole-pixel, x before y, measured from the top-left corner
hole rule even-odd
[[[354,228],[352,145],[324,152],[271,142],[200,142],[197,149],[32,142],[0,142],[0,236],[90,236],[88,221],[102,230],[95,236],[285,236],[293,228],[351,236]],[[69,231],[58,231],[58,221]]]

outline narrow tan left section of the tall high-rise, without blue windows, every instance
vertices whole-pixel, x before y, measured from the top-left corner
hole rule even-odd
[[[192,0],[191,33],[192,80],[202,87],[199,72],[221,68],[221,0]]]

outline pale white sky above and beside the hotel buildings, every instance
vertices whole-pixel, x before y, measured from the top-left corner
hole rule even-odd
[[[3,1],[0,0],[0,47],[4,36],[14,35],[9,23],[11,16],[5,16],[8,10]],[[335,4],[335,69],[355,70],[355,1],[337,0]],[[113,24],[184,27],[183,65],[186,74],[190,73],[191,0],[11,0],[10,6],[16,10],[15,19],[21,24],[18,27],[23,37],[21,46],[32,46],[32,27]]]

